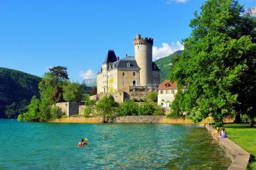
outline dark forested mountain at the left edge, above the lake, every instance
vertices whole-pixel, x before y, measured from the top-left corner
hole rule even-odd
[[[31,97],[39,96],[38,83],[42,78],[0,67],[0,117],[16,118],[26,111]]]

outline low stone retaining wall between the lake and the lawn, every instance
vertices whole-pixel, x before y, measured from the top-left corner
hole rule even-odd
[[[214,128],[211,128],[208,124],[205,124],[205,128],[212,133]],[[224,152],[232,159],[232,164],[228,169],[246,169],[250,159],[250,153],[245,151],[242,147],[238,146],[229,138],[219,138],[218,133],[214,133],[214,139],[223,148]]]

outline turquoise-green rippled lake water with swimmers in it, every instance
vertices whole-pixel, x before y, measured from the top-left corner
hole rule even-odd
[[[85,137],[88,145],[77,147]],[[0,143],[0,169],[228,169],[231,164],[208,131],[196,125],[0,120]]]

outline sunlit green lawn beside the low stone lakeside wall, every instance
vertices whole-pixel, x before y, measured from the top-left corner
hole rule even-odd
[[[250,154],[256,157],[256,128],[247,124],[227,123],[224,125],[227,136]],[[256,160],[250,163],[251,169],[256,169]]]

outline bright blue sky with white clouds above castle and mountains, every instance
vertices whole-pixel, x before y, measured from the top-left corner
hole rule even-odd
[[[134,55],[137,33],[154,38],[154,59],[182,49],[204,0],[1,0],[0,66],[42,76],[67,66],[72,81],[91,78],[107,50]],[[253,7],[256,0],[240,0]]]

